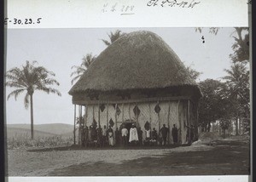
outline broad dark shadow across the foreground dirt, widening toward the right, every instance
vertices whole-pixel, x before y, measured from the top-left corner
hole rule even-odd
[[[57,168],[49,176],[154,176],[154,175],[248,175],[249,144],[215,141],[209,151],[172,152],[147,156],[121,164],[95,162]],[[152,154],[154,155],[154,154]]]

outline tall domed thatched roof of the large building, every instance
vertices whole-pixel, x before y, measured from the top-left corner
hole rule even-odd
[[[102,51],[69,94],[181,86],[198,88],[172,48],[153,32],[134,31]]]

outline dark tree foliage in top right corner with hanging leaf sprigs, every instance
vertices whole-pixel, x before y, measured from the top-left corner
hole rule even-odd
[[[234,27],[235,31],[232,33],[236,33],[236,36],[233,36],[235,43],[232,45],[234,50],[234,54],[230,54],[230,59],[236,62],[248,62],[249,61],[249,28],[247,27]],[[211,27],[209,28],[209,33],[214,35],[218,34],[220,28]],[[202,28],[195,28],[195,31],[199,31],[201,33]]]

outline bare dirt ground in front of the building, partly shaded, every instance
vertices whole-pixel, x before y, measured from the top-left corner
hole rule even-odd
[[[222,140],[172,149],[9,152],[9,175],[248,174],[249,144]]]

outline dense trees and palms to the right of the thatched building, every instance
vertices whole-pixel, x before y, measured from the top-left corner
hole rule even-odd
[[[230,121],[236,121],[236,135],[238,131],[238,120],[242,122],[243,132],[249,130],[250,122],[250,84],[249,71],[249,34],[248,28],[234,27],[236,36],[232,45],[233,54],[230,54],[232,65],[225,69],[227,73],[220,81],[206,80],[200,82],[202,93],[199,109],[199,122],[209,131],[210,123],[220,121],[220,127],[224,130],[230,127]],[[218,34],[220,28],[209,28],[209,33]],[[200,31],[201,28],[196,28]],[[215,113],[215,114],[213,114]],[[224,134],[225,135],[225,134]]]

